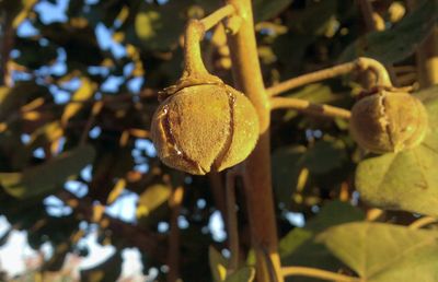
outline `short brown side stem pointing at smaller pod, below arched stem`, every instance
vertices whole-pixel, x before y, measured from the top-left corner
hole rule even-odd
[[[309,101],[300,98],[275,97],[270,99],[270,108],[272,109],[290,108],[310,115],[319,115],[332,118],[339,117],[349,119],[351,116],[351,113],[347,109],[330,105],[313,104],[310,103]]]

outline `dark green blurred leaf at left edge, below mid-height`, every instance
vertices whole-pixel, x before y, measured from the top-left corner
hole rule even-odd
[[[26,168],[23,173],[0,173],[0,184],[8,193],[20,199],[50,193],[93,158],[92,146],[80,146],[44,164]]]

